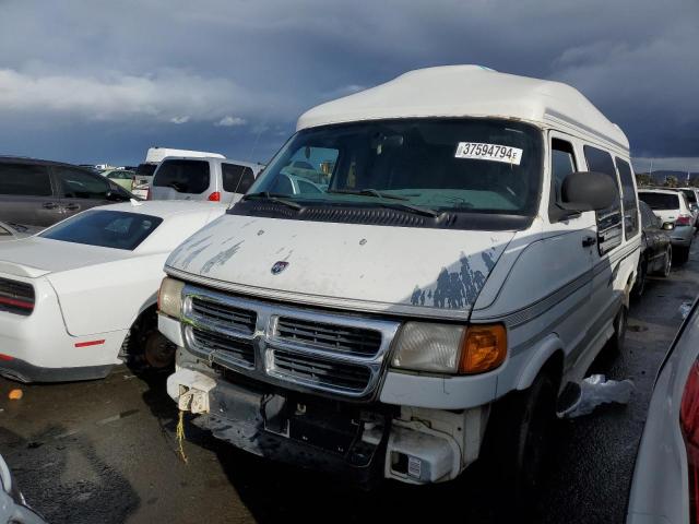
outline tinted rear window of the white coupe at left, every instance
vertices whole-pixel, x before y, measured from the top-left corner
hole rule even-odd
[[[39,236],[63,242],[134,250],[163,222],[157,216],[126,211],[88,211],[68,218]]]

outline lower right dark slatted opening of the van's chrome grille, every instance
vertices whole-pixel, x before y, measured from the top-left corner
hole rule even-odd
[[[371,380],[367,366],[319,359],[284,349],[274,349],[274,372],[308,385],[352,393],[364,392]]]

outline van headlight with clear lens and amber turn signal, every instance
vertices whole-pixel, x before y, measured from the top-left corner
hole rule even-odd
[[[473,374],[497,368],[506,356],[507,332],[501,324],[407,322],[391,364],[415,371]]]

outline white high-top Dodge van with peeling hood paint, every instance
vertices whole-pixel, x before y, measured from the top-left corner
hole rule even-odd
[[[623,344],[639,238],[628,141],[578,91],[413,71],[303,115],[170,255],[168,393],[273,460],[428,484],[490,450],[528,486],[559,392]]]

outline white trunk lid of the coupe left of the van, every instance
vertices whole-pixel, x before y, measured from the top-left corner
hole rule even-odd
[[[130,251],[29,237],[0,243],[0,272],[36,278],[48,273],[120,260]]]

